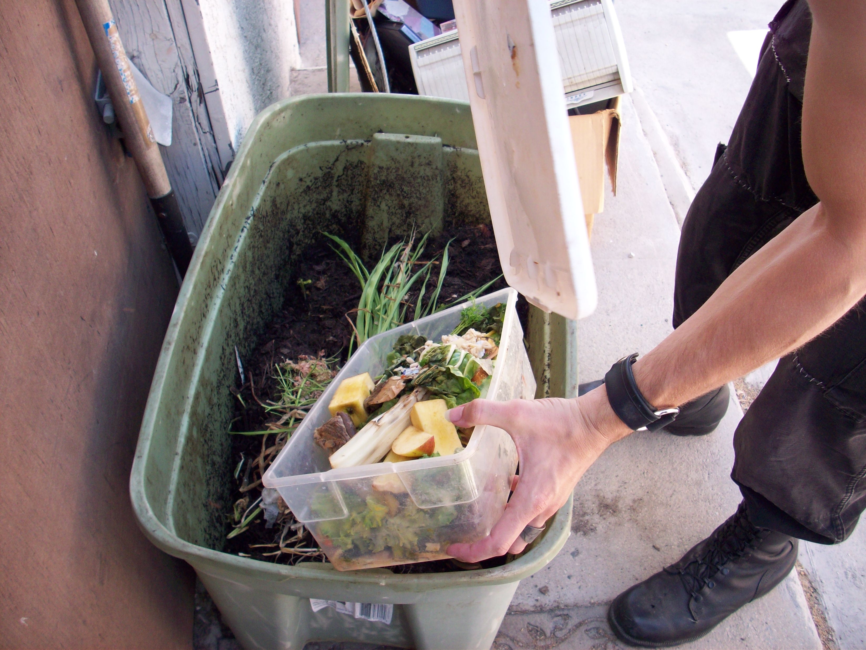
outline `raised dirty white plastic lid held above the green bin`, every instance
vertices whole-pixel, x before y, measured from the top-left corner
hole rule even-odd
[[[566,318],[597,294],[550,6],[455,0],[469,104],[505,279]]]

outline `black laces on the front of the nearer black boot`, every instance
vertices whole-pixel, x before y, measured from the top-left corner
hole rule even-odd
[[[692,596],[698,595],[727,562],[744,556],[746,549],[756,548],[755,541],[759,532],[746,518],[746,504],[740,504],[736,514],[709,539],[701,555],[680,569],[680,577],[686,590]]]

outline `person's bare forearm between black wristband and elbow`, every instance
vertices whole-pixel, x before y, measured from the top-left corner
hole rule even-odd
[[[866,246],[834,223],[820,204],[806,211],[638,360],[647,400],[680,406],[798,348],[854,306],[866,293]]]

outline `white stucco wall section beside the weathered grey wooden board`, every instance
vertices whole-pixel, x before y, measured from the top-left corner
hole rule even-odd
[[[321,0],[303,0],[320,2]],[[301,65],[292,0],[199,0],[232,146],[255,114],[288,97]]]

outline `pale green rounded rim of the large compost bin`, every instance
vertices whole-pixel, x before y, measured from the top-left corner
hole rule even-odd
[[[353,100],[360,102],[433,102],[443,105],[452,105],[458,110],[462,109],[469,111],[469,102],[466,101],[430,98],[420,95],[329,93],[290,97],[275,102],[255,116],[255,119],[249,125],[249,129],[243,138],[243,142],[231,168],[229,169],[229,173],[223,182],[223,186],[216,197],[216,201],[210,209],[207,222],[204,225],[204,230],[202,231],[201,237],[199,237],[198,244],[192,255],[189,269],[184,277],[184,282],[181,283],[180,290],[178,291],[177,302],[175,302],[174,309],[171,313],[171,320],[165,333],[165,339],[159,353],[157,366],[154,370],[153,380],[151,382],[151,388],[145,406],[145,413],[139,429],[139,441],[138,445],[136,445],[135,457],[132,460],[132,471],[130,472],[129,478],[129,492],[132,501],[132,510],[135,513],[136,521],[145,536],[158,549],[165,551],[165,553],[170,556],[179,557],[190,562],[196,569],[204,568],[204,565],[222,567],[224,569],[236,569],[242,571],[244,574],[255,574],[257,577],[269,579],[273,582],[302,579],[335,583],[369,583],[380,587],[395,588],[397,591],[417,591],[418,583],[421,583],[424,589],[433,589],[455,588],[467,585],[470,582],[474,585],[478,584],[478,582],[495,585],[522,580],[523,578],[533,575],[533,573],[542,569],[548,562],[553,560],[553,557],[555,557],[559,553],[559,550],[565,545],[565,540],[569,535],[571,535],[573,496],[569,497],[568,502],[556,512],[542,536],[533,543],[532,547],[527,550],[523,556],[520,556],[513,562],[508,562],[501,567],[495,567],[493,569],[475,569],[436,574],[391,574],[387,569],[338,571],[333,569],[333,565],[325,562],[302,562],[295,566],[289,566],[288,564],[274,564],[242,556],[233,556],[229,553],[223,553],[222,551],[208,549],[204,546],[198,546],[197,544],[187,542],[175,533],[171,532],[171,530],[169,530],[165,524],[158,519],[147,499],[145,491],[145,465],[152,443],[152,432],[156,424],[159,401],[165,386],[165,378],[171,361],[171,356],[177,344],[180,324],[184,320],[186,305],[191,296],[193,279],[198,275],[202,268],[204,251],[209,248],[210,238],[214,237],[214,231],[216,229],[216,219],[214,216],[216,213],[223,210],[224,205],[228,203],[229,200],[234,198],[235,179],[241,172],[242,168],[247,164],[247,159],[252,155],[250,150],[255,144],[255,134],[272,115],[280,113],[286,107],[293,104],[303,104],[308,101],[339,101],[341,99],[345,101],[346,97],[351,97]],[[305,567],[304,564],[307,564],[308,566]]]

